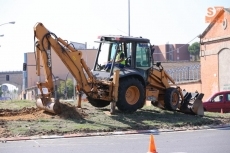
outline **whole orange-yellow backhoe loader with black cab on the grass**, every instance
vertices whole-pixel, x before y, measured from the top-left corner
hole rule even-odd
[[[154,106],[171,111],[203,115],[202,93],[182,91],[164,71],[161,63],[154,63],[154,46],[142,37],[117,35],[100,36],[98,53],[92,70],[82,58],[82,51],[50,32],[42,23],[34,27],[36,69],[40,78],[40,61],[43,62],[46,81],[37,82],[40,97],[37,106],[48,112],[60,113],[57,87],[53,82],[51,52],[55,52],[77,81],[77,107],[81,107],[84,93],[94,107],[110,105],[111,113],[116,107],[122,112],[141,109],[146,100]],[[122,51],[123,67],[115,58]],[[110,68],[106,67],[111,61]]]

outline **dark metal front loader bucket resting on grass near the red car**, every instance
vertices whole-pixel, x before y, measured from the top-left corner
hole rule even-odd
[[[184,100],[181,102],[180,112],[193,115],[204,115],[202,98],[203,93],[183,92]]]

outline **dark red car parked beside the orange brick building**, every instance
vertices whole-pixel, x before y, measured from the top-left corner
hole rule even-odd
[[[230,113],[230,91],[222,91],[213,94],[203,102],[204,111]]]

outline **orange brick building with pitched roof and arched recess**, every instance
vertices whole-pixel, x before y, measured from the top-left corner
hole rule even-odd
[[[230,8],[219,11],[200,35],[200,43],[202,92],[207,99],[230,90]]]

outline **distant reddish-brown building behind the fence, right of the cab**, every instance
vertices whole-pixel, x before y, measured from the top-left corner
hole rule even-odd
[[[189,44],[164,44],[155,46],[155,61],[190,61]]]

